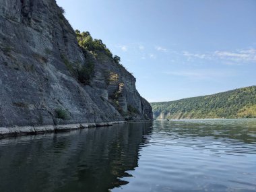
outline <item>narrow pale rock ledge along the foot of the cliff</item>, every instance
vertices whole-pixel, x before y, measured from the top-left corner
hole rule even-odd
[[[75,123],[66,125],[41,125],[41,126],[13,126],[0,127],[0,139],[5,137],[16,137],[22,135],[36,135],[44,133],[72,131],[77,129],[85,129],[90,127],[107,127],[121,123],[148,122],[148,121],[112,121],[102,123]]]

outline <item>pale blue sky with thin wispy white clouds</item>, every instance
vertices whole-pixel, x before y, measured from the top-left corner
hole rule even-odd
[[[256,85],[255,0],[57,0],[150,102]]]

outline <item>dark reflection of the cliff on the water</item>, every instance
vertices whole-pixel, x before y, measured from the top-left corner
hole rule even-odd
[[[1,191],[108,191],[137,166],[152,123],[0,141]]]

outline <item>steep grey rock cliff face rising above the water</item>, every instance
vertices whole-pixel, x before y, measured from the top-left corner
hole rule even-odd
[[[0,1],[0,127],[152,119],[133,75],[102,53],[83,53],[55,0]],[[63,56],[94,62],[90,86]]]

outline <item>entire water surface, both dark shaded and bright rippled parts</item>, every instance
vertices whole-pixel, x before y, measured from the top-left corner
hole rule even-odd
[[[256,119],[1,139],[0,191],[256,191]]]

